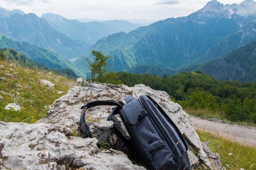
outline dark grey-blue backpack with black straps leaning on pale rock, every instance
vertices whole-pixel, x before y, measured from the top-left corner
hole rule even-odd
[[[146,168],[150,170],[191,170],[188,146],[181,132],[164,110],[150,96],[141,95],[121,101],[94,101],[82,107],[79,130],[82,137],[92,137],[86,124],[85,110],[99,105],[116,106],[108,120],[119,114],[132,144],[139,152]],[[118,137],[129,142],[115,127],[111,128]]]

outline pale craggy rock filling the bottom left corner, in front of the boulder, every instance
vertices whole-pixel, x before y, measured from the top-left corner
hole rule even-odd
[[[70,128],[53,124],[0,122],[0,169],[57,169],[99,152],[97,139],[68,137]]]

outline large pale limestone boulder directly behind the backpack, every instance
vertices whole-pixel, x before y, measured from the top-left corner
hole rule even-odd
[[[212,169],[210,161],[207,158],[207,154],[202,148],[198,134],[193,128],[189,115],[179,104],[170,100],[168,93],[153,90],[143,84],[128,87],[126,85],[85,82],[84,87],[76,86],[71,88],[66,95],[57,99],[52,105],[52,108],[47,112],[46,118],[41,119],[38,122],[54,123],[77,129],[80,120],[81,106],[86,103],[95,100],[121,100],[124,102],[124,98],[127,95],[131,95],[132,98],[136,98],[143,94],[153,97],[155,101],[162,106],[164,111],[171,117],[183,133],[189,148],[198,150],[198,155],[196,155],[198,157],[198,162],[195,163],[195,165],[202,162],[206,167]],[[112,124],[105,127],[103,131],[96,128],[99,126],[100,122],[104,122],[103,120],[107,119],[113,107],[114,106],[96,106],[88,110],[86,116],[87,121],[89,121],[88,125],[90,126],[93,137],[96,137],[99,140],[110,139],[113,140],[114,143],[117,142],[115,141],[115,137],[109,136],[111,132],[108,131],[112,127]],[[119,119],[119,121],[121,121],[121,119]],[[126,136],[128,136],[128,133],[126,133]]]

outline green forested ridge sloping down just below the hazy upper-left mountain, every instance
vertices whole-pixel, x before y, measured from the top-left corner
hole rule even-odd
[[[2,33],[0,33],[0,48],[15,49],[16,51],[19,51],[20,53],[22,53],[22,55],[25,55],[28,59],[31,59],[34,62],[44,64],[49,68],[54,69],[70,68],[76,73],[76,75],[84,77],[83,73],[79,71],[79,69],[74,64],[63,59],[56,53],[43,49],[34,44],[29,44],[28,42],[12,40],[11,38],[3,35]]]

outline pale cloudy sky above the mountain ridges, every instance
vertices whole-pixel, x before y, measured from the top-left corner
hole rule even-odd
[[[25,13],[59,14],[67,19],[164,20],[177,18],[203,8],[210,0],[0,0],[0,7]],[[255,0],[254,0],[255,1]],[[218,0],[240,4],[243,0]]]

